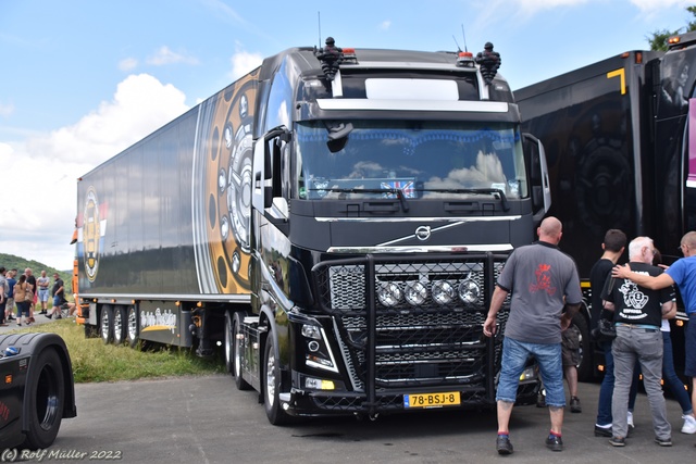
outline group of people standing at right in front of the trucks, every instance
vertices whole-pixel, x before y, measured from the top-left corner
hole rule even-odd
[[[502,339],[502,359],[496,393],[499,454],[512,454],[509,423],[520,376],[533,356],[545,389],[543,403],[549,410],[551,427],[545,444],[562,451],[561,428],[566,407],[563,377],[569,385],[571,411],[581,412],[576,398],[576,373],[572,364],[574,339],[568,336],[574,314],[581,306],[582,291],[577,268],[559,248],[562,224],[545,218],[537,228],[538,241],[515,249],[502,268],[484,323],[484,335],[493,337],[497,314],[510,296],[510,312]],[[669,319],[676,315],[674,286],[679,288],[689,324],[685,331],[684,375],[696,387],[696,231],[684,235],[680,250],[684,258],[671,266],[661,264],[659,251],[649,237],[630,243],[623,231],[608,230],[602,255],[591,271],[593,288],[592,328],[613,327],[600,347],[605,353],[605,377],[599,391],[594,434],[609,438],[613,447],[624,447],[634,427],[633,406],[638,374],[647,393],[652,417],[655,443],[672,446],[672,427],[667,417],[662,380],[682,409],[683,434],[696,434],[692,398],[674,372]],[[625,247],[629,263],[618,265]],[[596,330],[593,333],[597,334]],[[694,389],[693,389],[694,390]]]

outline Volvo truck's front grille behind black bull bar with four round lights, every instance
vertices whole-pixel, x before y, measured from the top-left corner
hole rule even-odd
[[[500,343],[482,327],[505,259],[369,255],[315,266],[316,294],[334,316],[353,387],[493,386]]]

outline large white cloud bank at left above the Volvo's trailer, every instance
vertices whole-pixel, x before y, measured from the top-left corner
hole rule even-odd
[[[0,250],[70,268],[77,177],[187,111],[185,98],[150,75],[132,75],[113,100],[76,124],[26,143],[0,143]]]

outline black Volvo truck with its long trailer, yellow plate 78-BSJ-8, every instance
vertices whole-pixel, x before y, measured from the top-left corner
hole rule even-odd
[[[543,148],[497,53],[326,43],[79,178],[86,330],[222,346],[273,424],[492,406],[501,344],[482,326],[548,210]],[[531,364],[520,402],[536,389]]]

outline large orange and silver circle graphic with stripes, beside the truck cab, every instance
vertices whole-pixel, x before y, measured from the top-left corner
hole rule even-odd
[[[256,79],[203,102],[194,160],[194,234],[203,293],[248,292]]]

